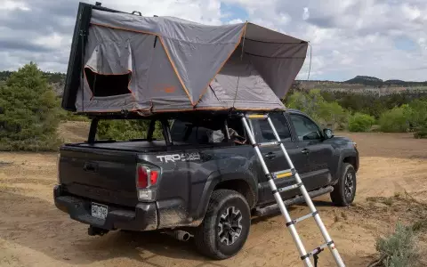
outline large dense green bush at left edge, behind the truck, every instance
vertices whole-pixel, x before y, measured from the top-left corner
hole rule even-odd
[[[56,150],[60,107],[43,72],[29,63],[0,88],[0,150]]]

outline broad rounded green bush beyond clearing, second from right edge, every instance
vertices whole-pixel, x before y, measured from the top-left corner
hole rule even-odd
[[[405,133],[410,128],[410,117],[412,109],[408,105],[402,105],[385,111],[380,119],[379,124],[381,131],[386,133]]]

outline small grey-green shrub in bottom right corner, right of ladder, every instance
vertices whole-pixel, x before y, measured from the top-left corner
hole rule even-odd
[[[375,247],[386,267],[416,266],[419,261],[414,231],[401,223],[391,235],[377,239]]]

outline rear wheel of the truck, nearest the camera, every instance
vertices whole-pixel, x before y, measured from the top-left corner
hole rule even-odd
[[[230,258],[245,245],[250,227],[246,198],[234,190],[215,190],[194,235],[197,250],[215,260]]]

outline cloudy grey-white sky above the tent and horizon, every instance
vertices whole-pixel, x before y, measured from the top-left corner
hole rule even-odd
[[[144,16],[249,20],[310,41],[310,79],[427,80],[427,0],[98,0]],[[94,4],[93,1],[88,3]],[[0,70],[65,72],[77,0],[0,0]],[[310,54],[310,52],[309,52]],[[310,55],[298,78],[306,79]]]

